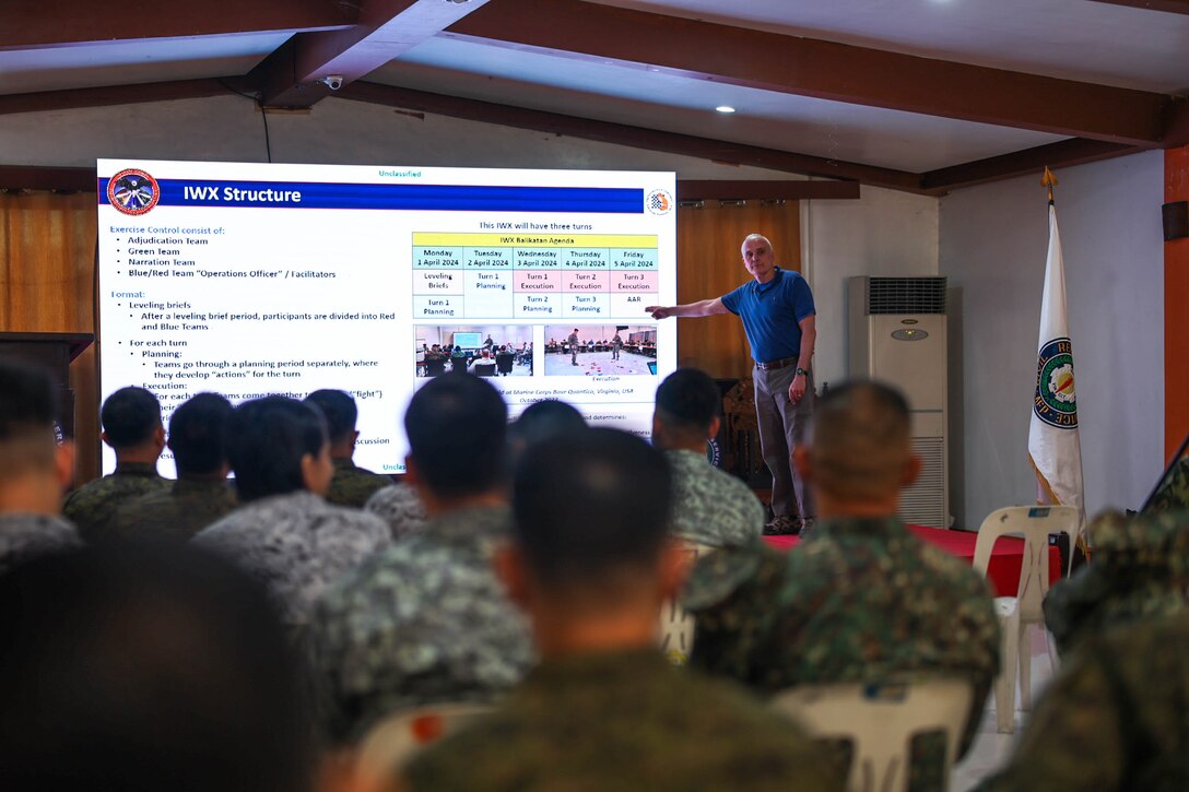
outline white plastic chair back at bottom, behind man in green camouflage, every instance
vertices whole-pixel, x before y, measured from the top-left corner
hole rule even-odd
[[[792,687],[772,705],[818,738],[845,738],[854,744],[847,788],[850,792],[902,792],[908,788],[914,735],[945,733],[949,779],[974,689],[950,678],[902,684],[847,684]]]

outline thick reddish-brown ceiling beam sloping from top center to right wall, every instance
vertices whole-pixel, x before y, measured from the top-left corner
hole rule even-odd
[[[1109,143],[1163,145],[1170,96],[583,0],[499,0],[442,36],[707,82]]]

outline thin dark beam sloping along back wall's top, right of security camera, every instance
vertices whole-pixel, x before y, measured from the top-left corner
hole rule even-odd
[[[339,92],[341,99],[386,105],[402,109],[435,113],[486,124],[498,124],[520,130],[548,132],[584,140],[612,143],[648,151],[698,157],[732,165],[753,165],[806,176],[853,180],[874,187],[898,190],[920,190],[920,176],[905,170],[877,168],[858,163],[826,159],[776,149],[762,149],[726,140],[713,140],[675,132],[662,132],[624,124],[597,121],[575,115],[547,113],[510,105],[496,105],[471,99],[459,99],[411,88],[396,88],[359,81]]]

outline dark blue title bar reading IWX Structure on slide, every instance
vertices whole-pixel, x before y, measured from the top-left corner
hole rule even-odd
[[[108,178],[99,180],[99,202]],[[621,187],[491,187],[472,184],[342,184],[161,178],[158,206],[411,209],[442,212],[589,212],[642,214],[644,191]]]

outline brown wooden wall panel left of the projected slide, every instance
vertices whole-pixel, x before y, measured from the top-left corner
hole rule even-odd
[[[95,194],[0,195],[0,331],[95,332]],[[99,474],[95,347],[70,366],[76,479]]]

